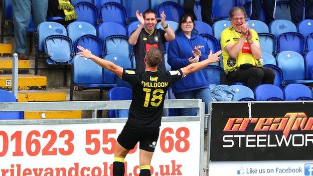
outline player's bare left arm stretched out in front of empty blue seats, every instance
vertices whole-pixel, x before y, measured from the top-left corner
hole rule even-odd
[[[107,61],[107,60],[101,59],[101,58],[93,55],[91,53],[91,51],[84,49],[81,46],[77,46],[77,48],[81,51],[81,52],[77,53],[77,55],[80,55],[79,57],[85,57],[87,59],[91,59],[93,62],[97,63],[99,66],[115,73],[120,78],[122,77],[122,73],[123,73],[122,67],[115,65],[111,61]]]

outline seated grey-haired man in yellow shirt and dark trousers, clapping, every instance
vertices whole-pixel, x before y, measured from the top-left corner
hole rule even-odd
[[[221,33],[223,68],[230,83],[241,82],[254,90],[260,84],[273,84],[275,72],[262,67],[259,37],[246,18],[243,7],[229,13],[231,25]]]

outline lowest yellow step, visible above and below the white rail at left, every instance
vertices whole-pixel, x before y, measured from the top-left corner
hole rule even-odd
[[[34,101],[66,101],[66,92],[48,91],[21,91],[18,93],[18,102]],[[25,111],[25,119],[73,119],[82,118],[82,111]]]

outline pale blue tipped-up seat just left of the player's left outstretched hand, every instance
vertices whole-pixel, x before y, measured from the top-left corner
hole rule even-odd
[[[45,53],[49,55],[48,64],[71,64],[74,56],[72,40],[63,35],[52,35],[45,39]]]

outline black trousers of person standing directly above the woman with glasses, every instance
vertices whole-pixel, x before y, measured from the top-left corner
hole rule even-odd
[[[212,0],[200,0],[201,3],[201,17],[202,21],[213,25],[211,12],[212,12]],[[194,12],[195,0],[184,0],[184,11],[186,14],[191,14],[194,20],[197,20],[196,14]]]

